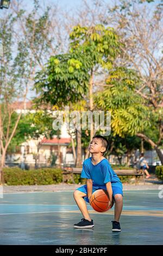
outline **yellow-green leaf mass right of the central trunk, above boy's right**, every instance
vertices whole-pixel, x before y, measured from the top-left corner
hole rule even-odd
[[[150,125],[145,100],[135,95],[140,80],[134,70],[117,68],[106,79],[105,90],[96,97],[98,108],[111,112],[111,129],[114,136],[135,135]]]

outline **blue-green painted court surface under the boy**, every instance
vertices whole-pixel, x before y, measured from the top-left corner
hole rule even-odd
[[[73,192],[4,194],[0,245],[162,245],[163,199],[159,190],[124,191],[121,232],[112,232],[114,207],[92,210],[92,229],[74,229],[83,218]]]

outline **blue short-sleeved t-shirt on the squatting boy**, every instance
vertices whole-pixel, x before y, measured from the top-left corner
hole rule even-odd
[[[120,178],[112,170],[106,158],[96,165],[92,164],[91,157],[84,160],[81,178],[91,178],[93,185],[98,186],[105,186],[107,182],[114,183],[114,186],[122,186]]]

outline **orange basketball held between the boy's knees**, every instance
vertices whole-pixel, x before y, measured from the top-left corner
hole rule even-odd
[[[104,189],[96,190],[90,198],[90,205],[97,212],[106,212],[111,207],[109,206],[109,195]]]

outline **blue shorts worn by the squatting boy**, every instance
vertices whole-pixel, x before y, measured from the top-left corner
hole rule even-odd
[[[123,196],[123,190],[122,190],[122,183],[118,183],[118,186],[117,186],[117,183],[116,183],[116,186],[114,183],[111,183],[111,187],[112,187],[112,196],[114,197],[116,194],[121,194]],[[104,189],[106,190],[106,186],[99,186],[99,185],[93,185],[92,186],[92,194],[93,192],[95,192],[97,189]],[[79,187],[77,188],[76,190],[79,190],[85,194],[87,194],[87,186],[86,184],[82,187]],[[88,197],[83,197],[84,200],[89,203],[89,199]]]

